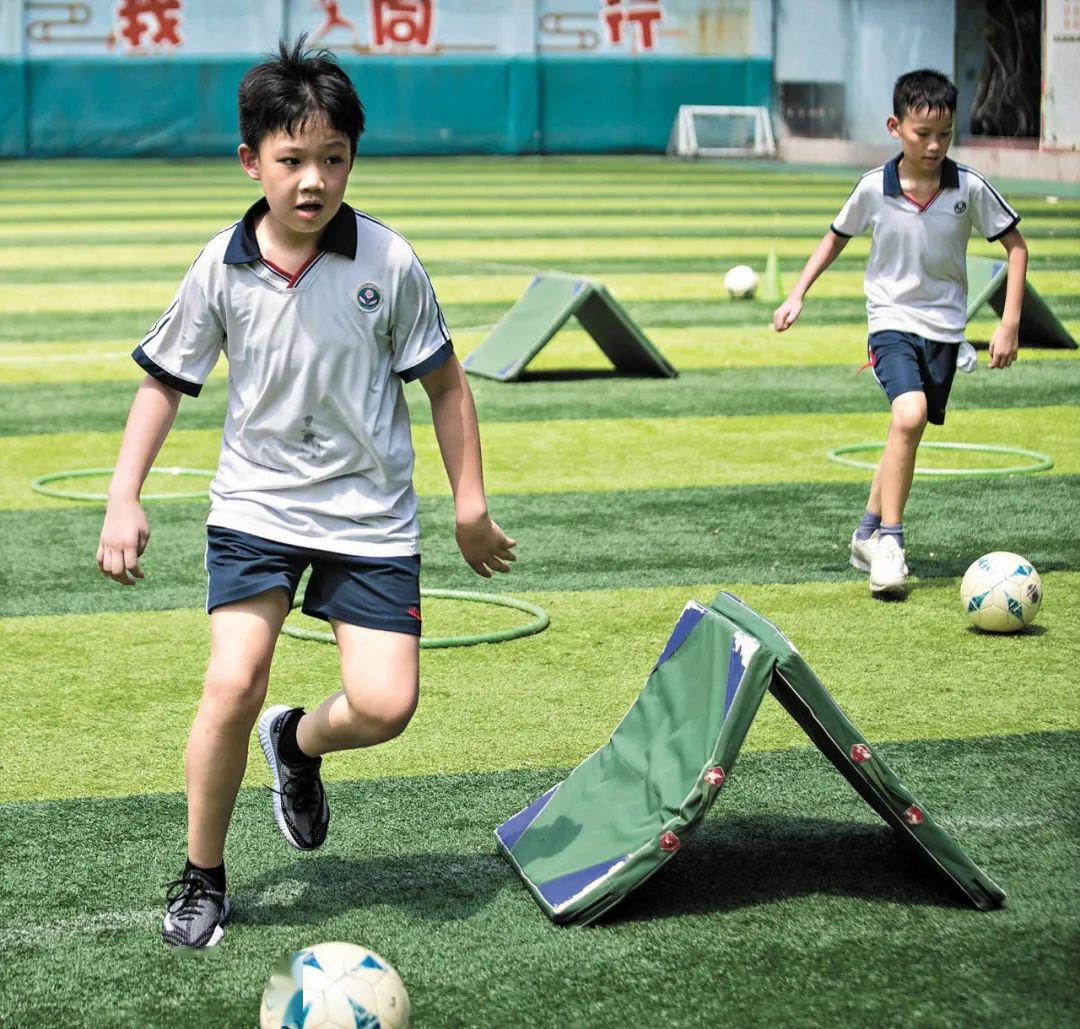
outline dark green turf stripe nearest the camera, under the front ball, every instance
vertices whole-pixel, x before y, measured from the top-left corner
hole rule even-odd
[[[893,1024],[897,996],[922,1020],[1074,1021],[1076,734],[881,753],[1008,890],[1003,910],[959,904],[806,748],[745,754],[678,858],[590,932],[551,925],[492,852],[491,827],[563,769],[332,783],[314,857],[276,837],[265,790],[244,790],[226,853],[233,922],[213,961],[177,961],[156,939],[183,797],[27,804],[4,809],[0,829],[12,855],[0,912],[15,926],[3,1011],[18,1026],[91,1025],[108,996],[110,1026],[247,1027],[276,957],[362,939],[404,977],[417,1026],[625,1026],[659,1011],[689,1027],[718,1008],[787,1025],[793,983],[809,985],[798,1011],[812,1025]],[[875,985],[852,993],[870,939]]]

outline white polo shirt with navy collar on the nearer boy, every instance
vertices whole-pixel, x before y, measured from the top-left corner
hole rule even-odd
[[[135,349],[198,396],[229,362],[229,409],[207,525],[359,556],[418,553],[402,381],[454,353],[408,242],[347,204],[292,277],[259,253],[255,204],[215,235]]]

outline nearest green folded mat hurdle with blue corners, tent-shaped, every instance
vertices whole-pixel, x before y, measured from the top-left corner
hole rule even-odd
[[[679,850],[730,778],[765,691],[860,796],[975,907],[1004,893],[939,826],[772,623],[731,594],[686,606],[610,740],[496,830],[537,904],[586,924]]]

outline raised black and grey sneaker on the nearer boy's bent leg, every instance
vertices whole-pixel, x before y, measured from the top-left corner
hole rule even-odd
[[[286,764],[278,755],[281,731],[291,718],[299,718],[301,707],[279,704],[259,719],[259,743],[273,778],[273,816],[282,835],[297,850],[313,851],[326,839],[330,809],[319,776],[323,759]]]

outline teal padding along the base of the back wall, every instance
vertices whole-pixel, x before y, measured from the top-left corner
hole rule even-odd
[[[340,56],[361,153],[663,152],[680,104],[771,104],[765,57]],[[2,157],[233,152],[251,57],[0,60]]]

